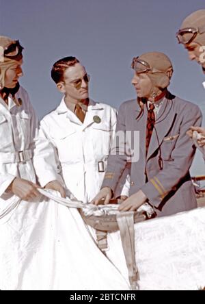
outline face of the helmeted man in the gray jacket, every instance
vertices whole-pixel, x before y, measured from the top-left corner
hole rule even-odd
[[[147,73],[136,73],[133,76],[132,84],[135,87],[137,96],[149,99],[152,92],[152,81]]]

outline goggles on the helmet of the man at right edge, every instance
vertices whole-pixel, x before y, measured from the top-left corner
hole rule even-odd
[[[184,27],[184,29],[180,29],[176,33],[176,38],[178,39],[178,43],[182,43],[183,45],[188,45],[198,34],[205,33],[204,27]]]

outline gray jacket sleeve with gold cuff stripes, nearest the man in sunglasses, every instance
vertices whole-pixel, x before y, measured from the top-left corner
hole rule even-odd
[[[120,134],[120,136],[119,136]],[[127,157],[125,154],[125,118],[124,118],[124,105],[120,106],[118,112],[118,119],[116,125],[115,136],[113,136],[113,144],[111,152],[108,157],[107,170],[102,182],[102,187],[109,187],[113,192],[118,185],[119,179],[122,176],[126,166]]]

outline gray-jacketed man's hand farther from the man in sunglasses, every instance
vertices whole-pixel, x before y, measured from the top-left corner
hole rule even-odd
[[[146,195],[141,191],[137,191],[135,194],[128,197],[123,203],[120,204],[118,208],[120,211],[135,211],[137,210],[143,203],[146,202]]]

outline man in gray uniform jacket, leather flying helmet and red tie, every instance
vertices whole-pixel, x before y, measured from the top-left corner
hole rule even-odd
[[[191,125],[201,124],[200,109],[167,90],[173,68],[165,54],[144,53],[133,58],[132,68],[137,102],[122,103],[117,131],[139,130],[140,152],[139,161],[131,163],[130,197],[119,209],[137,210],[149,201],[158,216],[191,210],[197,206],[189,174],[195,148],[186,132]],[[125,153],[109,155],[105,179],[93,203],[100,199],[109,203],[125,165]]]

